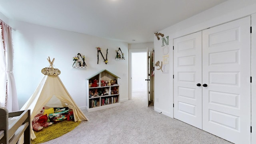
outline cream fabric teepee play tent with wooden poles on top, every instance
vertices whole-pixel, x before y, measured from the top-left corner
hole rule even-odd
[[[50,62],[50,67],[52,67],[52,64],[54,62],[54,59],[52,62],[50,61],[50,58],[48,59]],[[47,68],[48,70],[51,68]],[[44,70],[44,69],[43,69]],[[46,74],[47,72],[42,73]],[[56,70],[58,69],[54,69]],[[58,70],[59,71],[59,70]],[[31,122],[40,112],[40,110],[45,107],[50,108],[56,108],[56,107],[68,107],[73,110],[74,112],[74,121],[83,121],[88,120],[84,113],[80,110],[80,108],[76,105],[70,94],[68,93],[68,90],[66,90],[64,84],[60,80],[58,74],[59,73],[52,73],[52,70],[50,72],[48,71],[48,74],[46,74],[38,87],[36,88],[35,92],[32,94],[32,96],[28,99],[28,101],[22,106],[21,110],[27,110],[30,109],[31,112]],[[31,131],[31,138],[36,138],[34,131],[32,130],[32,124],[30,126]]]

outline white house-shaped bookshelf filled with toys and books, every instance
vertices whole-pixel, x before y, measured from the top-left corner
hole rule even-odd
[[[87,78],[88,112],[120,106],[118,78],[108,70]]]

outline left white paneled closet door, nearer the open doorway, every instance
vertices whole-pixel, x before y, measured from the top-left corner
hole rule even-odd
[[[201,84],[202,32],[174,39],[174,118],[200,129]]]

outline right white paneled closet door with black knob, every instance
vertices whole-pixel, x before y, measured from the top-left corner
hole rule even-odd
[[[250,144],[250,17],[202,34],[202,128],[236,144]]]

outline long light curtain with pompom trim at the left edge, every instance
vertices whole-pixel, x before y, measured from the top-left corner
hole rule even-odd
[[[18,98],[13,71],[12,28],[0,20],[0,106],[18,111]]]

